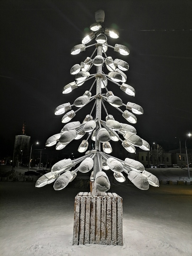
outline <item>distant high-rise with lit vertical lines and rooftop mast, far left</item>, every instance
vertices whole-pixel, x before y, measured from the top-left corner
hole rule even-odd
[[[25,122],[21,135],[15,136],[13,167],[27,165],[29,161],[30,136],[25,134]]]

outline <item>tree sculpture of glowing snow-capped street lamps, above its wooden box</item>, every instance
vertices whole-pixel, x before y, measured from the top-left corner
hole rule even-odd
[[[82,96],[76,98],[73,104],[69,102],[64,103],[55,109],[55,115],[64,114],[62,123],[68,123],[81,108],[86,107],[91,101],[95,101],[90,114],[85,116],[82,123],[76,121],[65,124],[58,134],[53,135],[46,142],[46,146],[56,144],[56,149],[60,150],[65,148],[72,140],[81,139],[86,133],[89,133],[87,139],[82,140],[78,148],[80,153],[86,153],[78,159],[64,159],[54,164],[48,174],[43,175],[37,180],[36,187],[42,187],[55,181],[54,189],[62,190],[69,182],[73,181],[78,171],[89,172],[92,169],[90,177],[92,191],[89,194],[91,197],[106,196],[105,192],[110,189],[110,182],[105,170],[109,169],[113,171],[114,178],[118,182],[126,180],[123,175],[124,173],[128,175],[129,180],[135,186],[142,190],[147,190],[149,185],[159,186],[158,178],[145,171],[144,166],[140,162],[129,158],[123,161],[109,155],[112,152],[110,140],[114,142],[120,140],[124,149],[130,153],[135,153],[135,146],[143,150],[149,150],[150,146],[145,140],[136,135],[136,130],[132,125],[116,121],[112,114],[107,112],[107,104],[110,104],[122,113],[126,121],[134,124],[137,122],[135,114],[143,114],[143,108],[132,102],[124,104],[121,98],[109,90],[110,83],[114,83],[129,97],[135,95],[134,88],[126,84],[127,76],[124,71],[128,70],[128,63],[121,59],[113,60],[111,56],[107,55],[108,48],[113,48],[115,52],[122,55],[129,55],[129,49],[121,44],[115,44],[114,47],[108,45],[107,36],[118,38],[119,33],[104,27],[104,17],[104,11],[97,11],[95,13],[96,23],[90,26],[90,33],[82,39],[81,44],[71,49],[71,54],[76,55],[85,51],[88,47],[94,48],[90,57],[87,57],[80,64],[75,64],[70,69],[70,74],[75,76],[75,81],[64,86],[63,94],[70,93],[91,79],[93,80],[92,85]],[[86,46],[94,38],[96,43]],[[95,67],[96,73],[91,74],[90,71]],[[108,74],[105,74],[104,71],[107,71]],[[96,87],[96,95],[92,96],[91,90],[94,86]],[[118,89],[116,92],[118,93]],[[78,107],[79,109],[74,111],[72,110],[73,107]],[[123,108],[124,110],[122,110]],[[101,110],[106,112],[106,120],[102,120]],[[95,148],[87,150],[90,136],[91,140],[95,142]],[[79,164],[78,167],[70,171],[77,164]],[[82,243],[85,243],[85,240],[84,238]],[[103,241],[106,240],[107,235]],[[80,240],[78,243],[81,243]],[[122,244],[122,242],[119,242],[119,244]]]

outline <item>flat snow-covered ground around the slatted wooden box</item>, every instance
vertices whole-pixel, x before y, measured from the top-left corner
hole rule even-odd
[[[0,255],[192,255],[191,185],[112,185],[110,192],[123,198],[123,246],[72,245],[74,198],[85,191],[0,182]]]

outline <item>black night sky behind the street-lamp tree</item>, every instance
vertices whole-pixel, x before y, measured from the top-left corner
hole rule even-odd
[[[119,38],[108,39],[108,44],[130,49],[129,56],[111,48],[107,55],[129,64],[126,83],[135,88],[135,97],[117,86],[111,90],[125,104],[130,101],[143,107],[144,114],[137,116],[134,125],[137,134],[167,150],[178,148],[175,137],[179,137],[184,147],[186,134],[192,132],[191,0],[1,0],[1,157],[12,154],[23,120],[31,144],[38,140],[43,149],[46,140],[64,126],[63,115],[55,116],[54,109],[62,103],[73,104],[89,90],[92,82],[87,81],[71,94],[62,94],[63,87],[74,81],[70,68],[93,51],[88,48],[70,55],[95,22],[98,9],[105,11],[106,27],[116,26],[119,31]],[[89,112],[90,107],[79,111],[72,121],[82,122]],[[113,111],[113,116],[126,123],[120,112]],[[187,143],[192,148],[192,138]],[[63,150],[74,150],[74,145]]]

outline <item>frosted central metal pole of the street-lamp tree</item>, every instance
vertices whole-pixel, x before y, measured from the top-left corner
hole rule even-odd
[[[102,56],[102,46],[97,45],[97,55]],[[101,151],[100,142],[97,140],[97,133],[98,129],[100,128],[99,122],[97,120],[101,120],[101,97],[99,95],[101,94],[101,75],[102,74],[102,65],[97,66],[97,84],[96,84],[96,130],[95,130],[95,150]],[[99,167],[100,165],[100,167]],[[94,158],[94,181],[95,176],[99,170],[102,169],[102,158],[99,156],[99,158]],[[93,186],[94,187],[94,186]],[[92,190],[92,196],[96,196],[97,192],[95,189]]]

